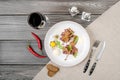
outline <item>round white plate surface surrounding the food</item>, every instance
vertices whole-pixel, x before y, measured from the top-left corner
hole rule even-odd
[[[76,47],[78,48],[78,55],[75,58],[73,55],[69,55],[67,60],[64,60],[66,57],[66,54],[63,54],[62,51],[60,55],[55,55],[53,53],[53,49],[50,47],[50,41],[54,40],[54,36],[56,34],[60,35],[64,29],[71,28],[75,33],[75,35],[78,35],[79,40],[76,44]],[[44,41],[45,51],[50,58],[50,60],[58,64],[60,66],[69,67],[74,66],[80,62],[82,62],[85,57],[88,55],[88,51],[90,48],[90,39],[88,36],[88,33],[86,30],[78,23],[73,21],[61,21],[59,23],[56,23],[49,29],[45,36]]]

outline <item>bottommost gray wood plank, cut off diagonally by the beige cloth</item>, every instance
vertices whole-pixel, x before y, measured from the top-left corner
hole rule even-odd
[[[0,65],[0,80],[32,80],[45,65]]]

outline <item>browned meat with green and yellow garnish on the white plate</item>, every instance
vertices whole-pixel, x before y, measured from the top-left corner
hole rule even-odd
[[[55,47],[57,47],[62,50],[63,54],[67,55],[65,60],[67,60],[69,55],[77,57],[78,48],[76,47],[76,44],[79,40],[79,37],[75,35],[71,28],[65,29],[60,35],[55,35],[54,37],[55,39],[50,42],[50,46],[53,49],[56,49]]]

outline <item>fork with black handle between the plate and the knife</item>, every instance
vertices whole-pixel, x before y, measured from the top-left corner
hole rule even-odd
[[[100,41],[99,40],[96,40],[95,43],[93,44],[93,47],[91,49],[91,52],[90,52],[90,56],[89,56],[89,59],[87,61],[87,63],[85,64],[85,67],[84,67],[84,70],[83,70],[83,73],[85,73],[89,67],[89,64],[90,64],[90,61],[91,61],[91,58],[93,56],[93,53],[95,52],[96,48],[98,47]]]

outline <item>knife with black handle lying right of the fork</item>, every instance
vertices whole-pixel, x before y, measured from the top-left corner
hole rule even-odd
[[[92,65],[90,72],[89,72],[89,76],[93,73],[97,62],[99,61],[99,59],[101,58],[103,51],[105,49],[106,43],[105,41],[101,41],[100,45],[98,46],[98,51],[97,51],[97,56],[96,56],[96,61],[94,62],[94,64]]]

